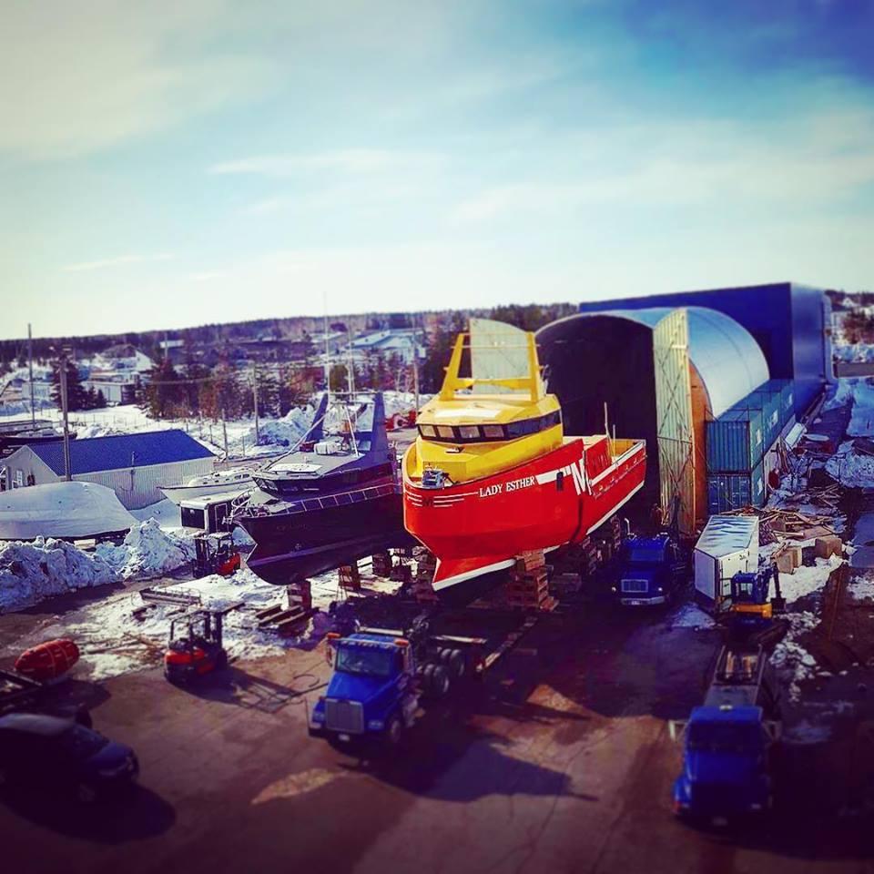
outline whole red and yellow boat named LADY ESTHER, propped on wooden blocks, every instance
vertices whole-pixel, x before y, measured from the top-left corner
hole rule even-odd
[[[533,333],[518,378],[461,377],[467,336],[455,341],[442,390],[419,412],[403,460],[404,525],[436,556],[437,591],[510,567],[523,552],[584,540],[646,473],[642,440],[564,435]]]

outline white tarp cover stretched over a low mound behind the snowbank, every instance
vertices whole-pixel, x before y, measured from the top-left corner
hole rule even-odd
[[[94,537],[136,524],[116,493],[97,483],[48,483],[0,493],[0,540]]]

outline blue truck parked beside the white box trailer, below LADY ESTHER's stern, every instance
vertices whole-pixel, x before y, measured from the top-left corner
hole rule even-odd
[[[613,592],[628,606],[666,604],[686,575],[686,562],[669,534],[629,537],[619,554]]]

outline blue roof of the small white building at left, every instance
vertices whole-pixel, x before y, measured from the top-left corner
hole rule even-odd
[[[58,475],[64,473],[63,442],[34,444],[34,452]],[[206,446],[179,429],[70,441],[71,473],[118,471],[168,462],[212,458]]]

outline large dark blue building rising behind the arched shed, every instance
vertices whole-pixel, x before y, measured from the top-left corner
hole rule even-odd
[[[792,282],[743,288],[679,291],[625,300],[585,301],[581,312],[646,307],[710,307],[731,316],[756,339],[770,376],[795,380],[795,412],[804,412],[828,378],[825,299],[821,290]]]

